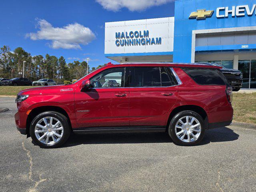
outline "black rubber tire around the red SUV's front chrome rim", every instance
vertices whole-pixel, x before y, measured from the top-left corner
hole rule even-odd
[[[56,142],[55,144],[51,144],[51,145],[47,145],[44,144],[42,142],[40,142],[37,138],[36,138],[36,134],[35,134],[35,126],[37,124],[37,122],[44,118],[44,117],[54,117],[56,119],[58,119],[62,126],[63,126],[63,135],[62,138],[60,138],[60,140],[58,142]],[[70,136],[70,132],[71,132],[71,126],[68,122],[68,118],[66,116],[64,116],[61,113],[58,112],[54,112],[54,111],[47,111],[47,112],[42,112],[40,114],[38,114],[33,120],[32,123],[30,124],[30,136],[32,138],[32,140],[38,144],[38,146],[42,147],[42,148],[58,148],[60,146],[62,146],[69,138]]]

